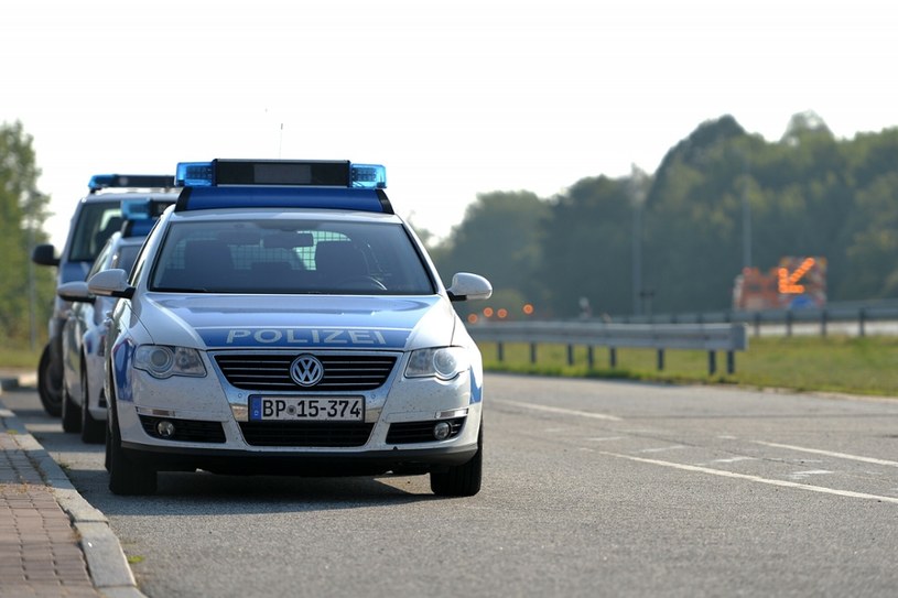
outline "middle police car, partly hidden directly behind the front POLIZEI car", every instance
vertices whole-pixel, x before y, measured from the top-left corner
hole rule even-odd
[[[100,250],[88,272],[90,278],[110,268],[130,271],[143,240],[162,210],[173,202],[163,199],[122,199],[125,224]],[[63,430],[80,432],[85,443],[101,443],[106,437],[105,319],[115,306],[112,297],[98,297],[87,282],[61,284],[56,294],[72,307],[63,325]]]

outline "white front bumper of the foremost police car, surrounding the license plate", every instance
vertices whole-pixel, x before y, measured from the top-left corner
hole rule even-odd
[[[251,422],[248,403],[259,393],[229,384],[212,360],[212,376],[203,378],[156,380],[130,370],[119,379],[129,384],[118,388],[115,410],[122,448],[159,471],[344,476],[467,463],[477,454],[483,406],[474,373],[444,382],[404,379],[404,367],[400,361],[381,387],[356,392],[364,421],[345,424]],[[156,432],[163,421],[175,431],[165,437]],[[433,430],[442,422],[451,433],[437,441]]]

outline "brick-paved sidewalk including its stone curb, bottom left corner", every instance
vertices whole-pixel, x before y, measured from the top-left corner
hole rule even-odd
[[[22,382],[0,379],[0,394]],[[0,596],[143,597],[106,517],[1,399]]]

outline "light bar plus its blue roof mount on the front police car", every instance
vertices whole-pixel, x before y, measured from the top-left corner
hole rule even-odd
[[[223,208],[318,208],[393,214],[387,170],[348,161],[213,160],[181,162],[175,211]]]

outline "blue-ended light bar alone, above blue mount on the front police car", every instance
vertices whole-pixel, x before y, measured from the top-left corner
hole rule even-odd
[[[382,189],[387,187],[387,170],[346,161],[219,159],[178,163],[175,184],[183,187],[270,185]]]

